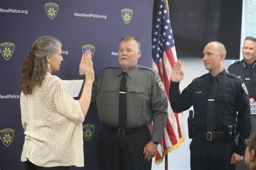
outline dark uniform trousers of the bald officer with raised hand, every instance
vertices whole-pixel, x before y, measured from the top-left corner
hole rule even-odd
[[[190,144],[191,170],[235,170],[230,164],[236,148],[235,141],[193,138]]]

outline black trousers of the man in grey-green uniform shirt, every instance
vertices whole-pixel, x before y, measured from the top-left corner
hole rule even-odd
[[[148,129],[124,136],[104,129],[99,132],[100,170],[150,170],[152,160],[144,159],[143,149],[151,139]]]

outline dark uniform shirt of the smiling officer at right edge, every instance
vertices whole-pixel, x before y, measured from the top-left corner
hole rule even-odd
[[[251,77],[246,76],[249,69],[251,72]],[[250,66],[248,66],[244,60],[235,61],[232,65],[228,67],[227,72],[237,75],[244,81],[246,78],[249,78],[249,96],[250,98],[254,98],[254,100],[256,100],[256,61],[254,61]]]

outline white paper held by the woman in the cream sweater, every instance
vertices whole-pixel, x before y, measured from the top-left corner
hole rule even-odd
[[[72,97],[78,97],[83,80],[62,80],[62,83]]]

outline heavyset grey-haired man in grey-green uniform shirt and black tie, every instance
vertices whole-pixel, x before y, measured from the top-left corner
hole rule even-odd
[[[167,97],[158,74],[137,63],[141,53],[138,39],[123,37],[120,66],[105,68],[93,83],[92,102],[103,122],[98,139],[100,170],[151,169],[156,155],[166,125]],[[79,68],[83,65],[82,59]],[[152,121],[151,136],[147,125]]]

